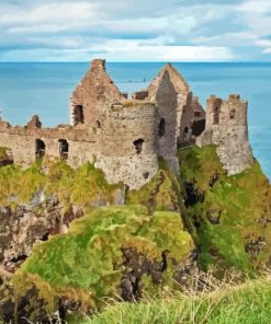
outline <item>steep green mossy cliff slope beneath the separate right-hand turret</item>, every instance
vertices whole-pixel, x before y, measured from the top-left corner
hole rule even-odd
[[[179,160],[190,187],[187,206],[197,229],[202,266],[248,273],[269,266],[271,187],[259,163],[227,176],[214,147],[180,150]],[[196,193],[202,199],[195,199]]]

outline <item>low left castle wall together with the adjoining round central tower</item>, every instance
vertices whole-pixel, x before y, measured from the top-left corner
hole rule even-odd
[[[11,127],[0,123],[0,147],[12,150],[14,163],[31,165],[36,159],[36,141],[45,144],[46,162],[63,159],[59,140],[68,143],[65,160],[72,167],[95,163],[110,183],[124,182],[132,189],[148,182],[158,171],[158,108],[154,103],[113,104],[97,128]]]

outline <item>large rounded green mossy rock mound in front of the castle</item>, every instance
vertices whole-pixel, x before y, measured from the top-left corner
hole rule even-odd
[[[69,233],[34,247],[12,279],[13,301],[19,304],[32,291],[36,306],[27,317],[36,321],[44,308],[89,311],[104,298],[140,297],[150,287],[146,278],[157,292],[174,285],[193,248],[177,212],[149,217],[144,207],[99,208],[74,221]]]

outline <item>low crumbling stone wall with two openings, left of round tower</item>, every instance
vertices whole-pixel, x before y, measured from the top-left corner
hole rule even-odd
[[[94,161],[97,135],[93,129],[72,129],[69,126],[39,128],[38,123],[32,123],[34,119],[37,120],[36,117],[32,118],[25,127],[11,127],[8,123],[0,121],[0,147],[11,149],[15,164],[27,166],[36,161],[38,158],[37,140],[45,146],[43,158],[46,161],[64,158],[60,154],[60,140],[66,140],[68,143],[65,160],[71,166]]]

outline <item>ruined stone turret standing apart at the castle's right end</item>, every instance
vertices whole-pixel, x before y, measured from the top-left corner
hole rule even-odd
[[[207,100],[206,128],[196,140],[200,147],[217,147],[216,152],[229,175],[242,172],[253,162],[247,108],[248,103],[238,94],[230,94],[227,101],[212,95]]]

